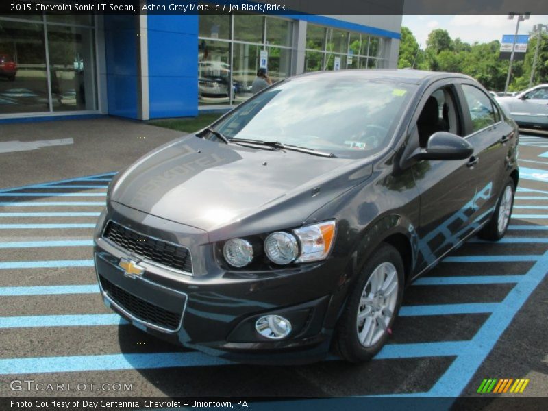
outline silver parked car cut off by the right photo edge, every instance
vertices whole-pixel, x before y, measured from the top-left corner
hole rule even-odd
[[[514,96],[496,99],[521,127],[548,127],[548,84],[539,84]]]

